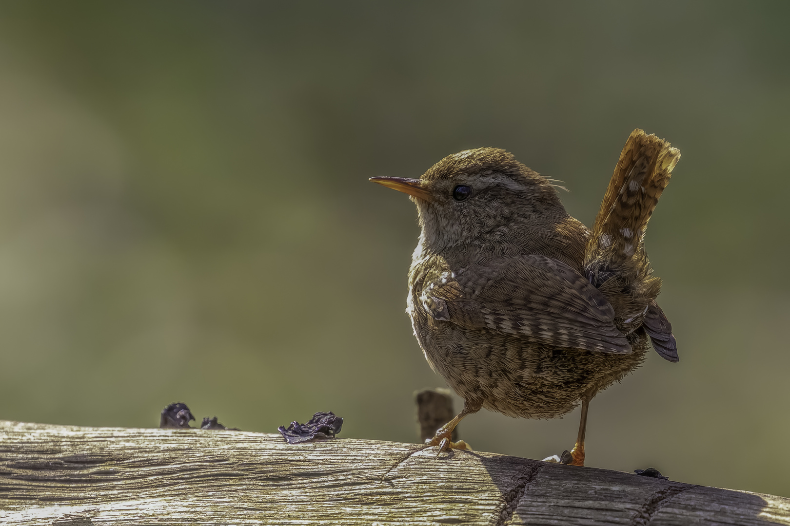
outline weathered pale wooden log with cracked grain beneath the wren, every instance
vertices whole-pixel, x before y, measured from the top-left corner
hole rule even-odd
[[[790,524],[790,499],[493,453],[0,421],[0,524]]]

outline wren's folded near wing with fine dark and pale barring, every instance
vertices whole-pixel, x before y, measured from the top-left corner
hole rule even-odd
[[[419,293],[433,319],[530,341],[602,353],[630,353],[615,311],[576,270],[546,256],[497,259],[450,270],[440,261]]]

